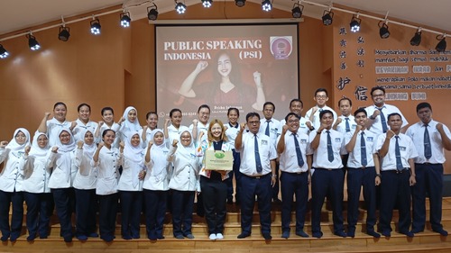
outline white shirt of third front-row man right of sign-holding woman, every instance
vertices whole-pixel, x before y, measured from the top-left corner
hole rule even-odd
[[[343,163],[341,160],[341,155],[346,154],[345,149],[345,136],[333,129],[330,129],[330,140],[332,144],[332,152],[334,155],[334,160],[329,162],[327,158],[327,130],[323,130],[319,136],[318,148],[313,151],[313,164],[312,167],[323,167],[323,168],[342,168]],[[310,132],[309,141],[310,145],[313,139],[317,136],[317,131]]]

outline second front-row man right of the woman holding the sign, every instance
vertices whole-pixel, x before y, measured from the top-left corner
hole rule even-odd
[[[290,237],[291,207],[296,196],[296,235],[307,238],[304,222],[308,203],[311,155],[308,135],[299,131],[299,115],[288,113],[277,142],[281,162],[282,238]]]

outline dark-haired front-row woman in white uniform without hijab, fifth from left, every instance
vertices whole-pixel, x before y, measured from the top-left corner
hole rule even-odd
[[[98,229],[100,239],[110,242],[115,239],[117,213],[117,182],[122,165],[124,143],[119,149],[113,146],[115,131],[107,129],[102,133],[102,142],[97,146],[92,165],[97,167]]]

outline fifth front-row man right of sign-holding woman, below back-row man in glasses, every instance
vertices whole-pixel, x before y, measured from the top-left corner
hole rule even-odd
[[[376,167],[376,185],[381,184],[381,207],[379,209],[379,230],[384,237],[391,237],[391,218],[398,203],[401,234],[413,237],[410,231],[410,186],[415,185],[413,158],[417,149],[409,136],[400,133],[402,120],[399,113],[387,117],[390,130],[379,135],[376,150],[381,159],[381,172]]]

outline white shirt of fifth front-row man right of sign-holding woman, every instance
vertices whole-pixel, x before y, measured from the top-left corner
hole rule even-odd
[[[417,149],[415,149],[413,141],[410,139],[409,136],[403,133],[400,133],[399,136],[400,138],[398,140],[398,144],[400,145],[400,160],[402,162],[402,167],[410,167],[409,159],[418,157]],[[386,137],[387,134],[385,133],[379,135],[379,137],[377,138],[377,146],[376,146],[377,151],[379,151],[382,148],[383,141],[385,141]],[[396,138],[395,136],[393,136],[390,140],[389,151],[387,152],[387,155],[385,155],[385,157],[381,159],[382,171],[396,170],[395,143]]]

